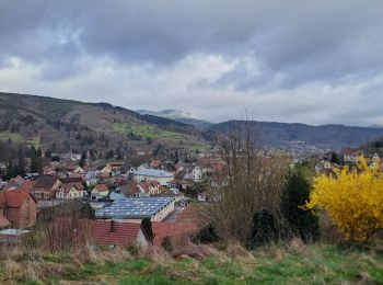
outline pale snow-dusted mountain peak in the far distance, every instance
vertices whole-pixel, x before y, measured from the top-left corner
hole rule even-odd
[[[173,110],[173,109],[167,109],[163,111],[136,110],[136,112],[141,115],[152,115],[152,116],[174,119],[187,125],[193,125],[199,129],[207,129],[213,125],[208,121],[197,118],[196,116],[179,110]]]

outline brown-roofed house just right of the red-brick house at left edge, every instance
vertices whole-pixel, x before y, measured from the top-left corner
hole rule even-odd
[[[53,200],[61,184],[60,179],[56,175],[43,175],[37,179],[32,193],[37,200]]]

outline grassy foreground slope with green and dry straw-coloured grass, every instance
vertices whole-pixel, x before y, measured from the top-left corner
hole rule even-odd
[[[0,261],[0,283],[383,284],[383,256],[335,246],[292,243],[247,252],[239,246],[173,259],[161,250],[16,254]],[[11,256],[11,255],[10,255]]]

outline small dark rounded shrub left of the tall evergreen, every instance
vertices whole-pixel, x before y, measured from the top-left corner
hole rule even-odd
[[[277,239],[277,228],[274,215],[270,210],[263,208],[257,210],[253,217],[253,229],[247,242],[249,249],[269,244]]]

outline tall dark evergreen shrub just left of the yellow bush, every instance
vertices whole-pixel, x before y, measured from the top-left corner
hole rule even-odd
[[[292,233],[303,241],[318,238],[318,218],[302,209],[310,198],[311,186],[300,173],[290,173],[281,194],[281,214]]]

